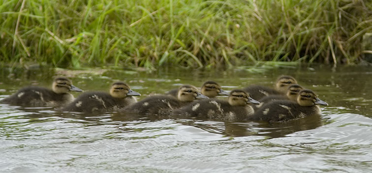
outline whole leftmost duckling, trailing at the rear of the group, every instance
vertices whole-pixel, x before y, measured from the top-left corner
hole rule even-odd
[[[24,87],[13,95],[0,100],[0,103],[32,107],[61,107],[74,100],[74,96],[68,91],[81,92],[82,90],[73,86],[71,80],[65,77],[56,77],[53,80],[52,90],[36,86]]]

